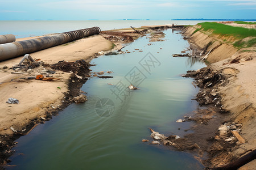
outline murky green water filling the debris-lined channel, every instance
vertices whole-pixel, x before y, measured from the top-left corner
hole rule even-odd
[[[19,138],[11,157],[17,166],[8,169],[203,169],[191,154],[141,142],[152,141],[148,128],[167,136],[191,133],[184,132],[191,124],[176,120],[197,108],[193,80],[180,75],[205,65],[173,58],[188,43],[177,31],[164,33],[166,41],[142,37],[123,49],[131,53],[93,59],[93,72],[113,71],[105,75],[114,78],[90,78],[81,88],[86,103],[69,105]],[[140,90],[127,91],[130,82]]]

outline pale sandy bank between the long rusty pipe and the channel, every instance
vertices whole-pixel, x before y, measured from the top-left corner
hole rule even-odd
[[[76,61],[78,59],[85,59],[86,61],[90,61],[95,56],[94,54],[101,50],[109,50],[110,48],[112,48],[112,42],[97,35],[41,50],[30,55],[32,58],[40,58],[44,63],[50,64],[62,60]],[[0,62],[0,68],[4,66],[11,68],[14,64],[19,63],[20,59],[22,57]],[[39,80],[25,81],[20,78],[36,76],[44,71],[43,68],[39,67],[38,71],[28,74],[11,74],[14,70],[8,68],[0,70],[1,135],[13,134],[13,131],[10,129],[11,126],[15,130],[22,131],[24,125],[27,125],[31,120],[44,117],[49,105],[52,104],[56,108],[58,105],[61,105],[64,92],[68,91],[67,82],[72,75],[72,73],[57,71],[53,76],[61,80],[53,82]],[[57,87],[61,87],[61,89]],[[18,99],[19,104],[7,104],[6,101],[9,97]]]

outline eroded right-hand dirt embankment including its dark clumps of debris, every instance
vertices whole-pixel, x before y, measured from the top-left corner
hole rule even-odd
[[[207,61],[211,64],[187,75],[194,77],[201,88],[197,95],[200,105],[213,105],[224,116],[217,122],[218,126],[228,127],[225,135],[216,129],[213,145],[208,147],[210,159],[205,164],[219,167],[256,148],[256,47],[237,49],[221,37],[195,31],[196,28],[187,27],[183,35],[195,56],[203,58],[208,54]],[[235,129],[230,127],[246,142],[237,141],[230,133]],[[255,167],[256,160],[253,160],[240,169]]]

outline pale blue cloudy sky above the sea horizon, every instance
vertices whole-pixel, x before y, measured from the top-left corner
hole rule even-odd
[[[256,19],[256,0],[0,0],[0,20]]]

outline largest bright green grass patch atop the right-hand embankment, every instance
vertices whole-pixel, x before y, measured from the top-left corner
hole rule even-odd
[[[232,27],[230,25],[220,23],[199,23],[201,29],[204,31],[212,30],[214,34],[234,36],[237,39],[243,39],[245,37],[256,37],[256,29],[248,29],[243,27]]]

